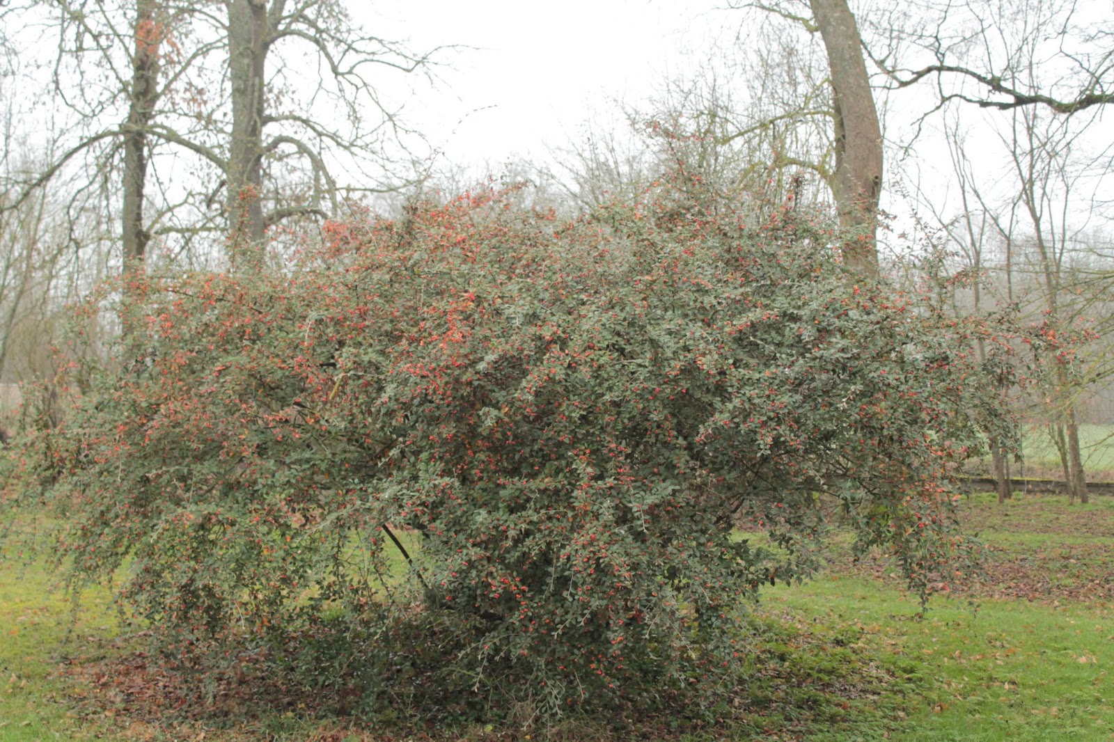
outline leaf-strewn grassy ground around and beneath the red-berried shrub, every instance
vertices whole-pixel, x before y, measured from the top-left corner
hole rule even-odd
[[[424,650],[378,663],[353,660],[372,654],[375,636],[319,635],[333,654],[321,655],[317,677],[292,672],[274,646],[216,673],[183,672],[183,656],[167,662],[148,637],[120,637],[104,592],[86,596],[75,623],[40,563],[0,562],[0,627],[10,627],[0,643],[0,741],[1111,739],[1114,605],[1087,592],[1114,555],[1101,534],[1114,533],[1110,506],[1028,498],[999,508],[973,498],[968,528],[987,536],[1022,587],[976,580],[965,589],[977,611],[938,597],[924,619],[885,563],[852,565],[847,540],[836,539],[829,574],[765,593],[751,622],[754,650],[716,703],[661,692],[548,728],[532,709],[500,706],[447,678],[443,643],[420,622],[411,629],[424,632]],[[1040,579],[1052,587],[1033,593]],[[293,637],[289,650],[312,638]]]

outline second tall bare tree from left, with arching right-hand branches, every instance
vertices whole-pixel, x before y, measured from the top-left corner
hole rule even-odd
[[[335,212],[338,163],[329,162],[331,154],[356,163],[365,162],[368,153],[384,156],[384,135],[402,129],[397,111],[384,106],[371,72],[388,68],[411,74],[429,66],[432,58],[431,53],[414,55],[395,42],[359,32],[336,0],[271,0],[270,4],[265,0],[226,0],[225,7],[227,22],[222,30],[228,41],[232,109],[224,160],[227,203],[233,243],[252,246],[255,255],[243,262],[253,265],[268,226],[293,216]],[[281,85],[268,76],[267,66],[283,45],[301,45],[316,55],[325,71],[315,82],[322,90],[331,89],[339,101],[336,113],[348,124],[343,134],[311,113],[274,110],[266,92]],[[365,121],[363,107],[378,111],[379,117]],[[283,150],[305,163],[312,182],[307,198],[265,193],[265,160]]]

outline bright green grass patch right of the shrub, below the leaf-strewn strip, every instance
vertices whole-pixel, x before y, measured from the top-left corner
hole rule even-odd
[[[901,719],[891,740],[1108,740],[1114,735],[1114,611],[936,601],[925,619],[895,589],[857,578],[775,588],[819,626],[854,627],[859,646],[917,691],[880,699]],[[808,739],[853,739],[838,731]]]

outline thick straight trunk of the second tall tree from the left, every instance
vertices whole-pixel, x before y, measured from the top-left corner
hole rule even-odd
[[[228,77],[232,141],[227,207],[229,255],[235,271],[263,267],[263,116],[270,20],[264,0],[228,0]]]

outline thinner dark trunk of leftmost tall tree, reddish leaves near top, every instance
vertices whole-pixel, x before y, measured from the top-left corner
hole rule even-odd
[[[137,0],[128,119],[124,126],[124,273],[144,270],[150,235],[144,228],[147,127],[158,101],[159,46],[165,37],[157,0]]]

